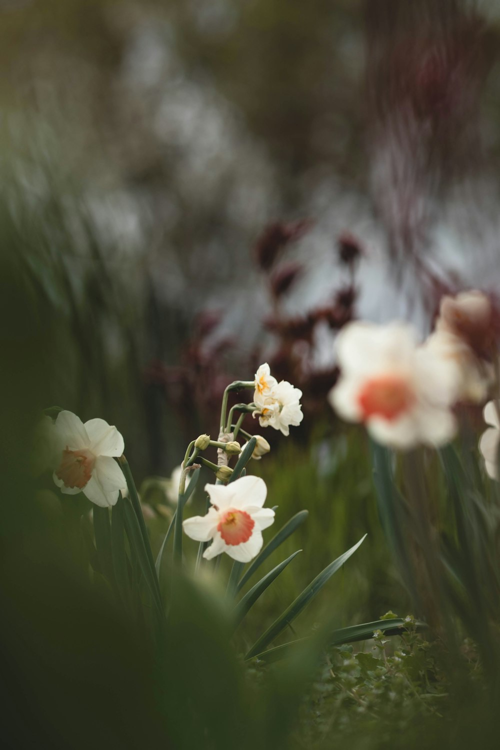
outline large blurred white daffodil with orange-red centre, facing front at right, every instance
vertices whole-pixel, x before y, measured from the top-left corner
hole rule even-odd
[[[363,422],[375,440],[397,448],[451,440],[457,366],[418,347],[411,326],[349,323],[336,350],[341,376],[328,398],[343,419]]]

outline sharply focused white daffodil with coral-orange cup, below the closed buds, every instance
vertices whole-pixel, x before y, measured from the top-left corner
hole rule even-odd
[[[239,562],[250,562],[262,548],[262,529],[274,522],[274,511],[262,508],[265,481],[243,476],[230,484],[206,484],[205,491],[211,502],[208,513],[184,520],[184,532],[196,541],[212,540],[205,559],[226,552]]]

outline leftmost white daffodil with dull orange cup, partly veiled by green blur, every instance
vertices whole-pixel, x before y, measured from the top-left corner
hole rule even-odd
[[[95,505],[115,505],[119,490],[127,487],[123,472],[113,457],[121,456],[124,440],[103,419],[82,420],[62,411],[55,420],[58,464],[55,484],[66,495],[82,492]]]

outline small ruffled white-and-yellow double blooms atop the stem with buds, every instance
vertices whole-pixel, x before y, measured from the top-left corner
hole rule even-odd
[[[304,414],[299,403],[302,392],[294,388],[287,380],[277,382],[272,377],[267,362],[261,365],[255,375],[255,392],[253,403],[256,410],[253,416],[259,416],[261,427],[273,427],[283,435],[289,435],[290,425],[301,424]]]

